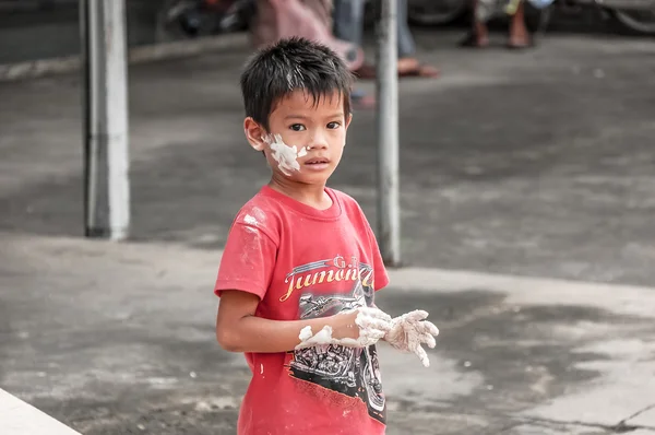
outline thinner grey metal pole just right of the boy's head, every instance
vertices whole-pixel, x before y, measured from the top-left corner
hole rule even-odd
[[[378,235],[385,264],[401,264],[397,0],[382,0],[378,26]]]

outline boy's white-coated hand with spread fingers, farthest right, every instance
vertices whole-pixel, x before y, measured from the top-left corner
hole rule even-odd
[[[391,321],[391,330],[384,336],[384,340],[395,349],[415,353],[425,367],[430,366],[430,360],[421,344],[433,349],[437,345],[434,337],[439,336],[439,328],[425,320],[427,317],[428,313],[422,309],[396,317]]]

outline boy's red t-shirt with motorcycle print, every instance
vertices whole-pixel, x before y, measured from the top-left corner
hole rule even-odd
[[[333,204],[320,211],[263,187],[233,223],[215,293],[255,294],[261,299],[255,315],[273,320],[373,305],[374,291],[389,283],[373,232],[353,198],[325,191]],[[384,433],[374,345],[247,353],[246,360],[252,380],[238,434]]]

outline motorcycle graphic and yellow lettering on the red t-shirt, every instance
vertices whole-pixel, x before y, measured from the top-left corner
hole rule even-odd
[[[334,281],[352,282],[352,287],[338,293],[315,291],[318,285]],[[336,257],[295,268],[287,275],[287,282],[290,283],[288,294],[302,291],[299,299],[301,319],[332,316],[373,303],[373,269],[355,257],[348,263],[343,257]],[[374,345],[354,349],[330,344],[294,351],[290,375],[359,398],[367,404],[371,418],[385,423],[385,399]]]

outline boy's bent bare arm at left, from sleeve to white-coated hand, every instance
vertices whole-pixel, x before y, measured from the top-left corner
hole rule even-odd
[[[254,315],[259,302],[251,293],[223,292],[216,318],[216,339],[223,349],[229,352],[287,352],[303,343],[327,344],[327,330],[332,343],[364,348],[382,338],[391,327],[391,317],[376,308],[306,320],[270,320]],[[302,341],[300,331],[307,327],[311,328],[311,334]]]

